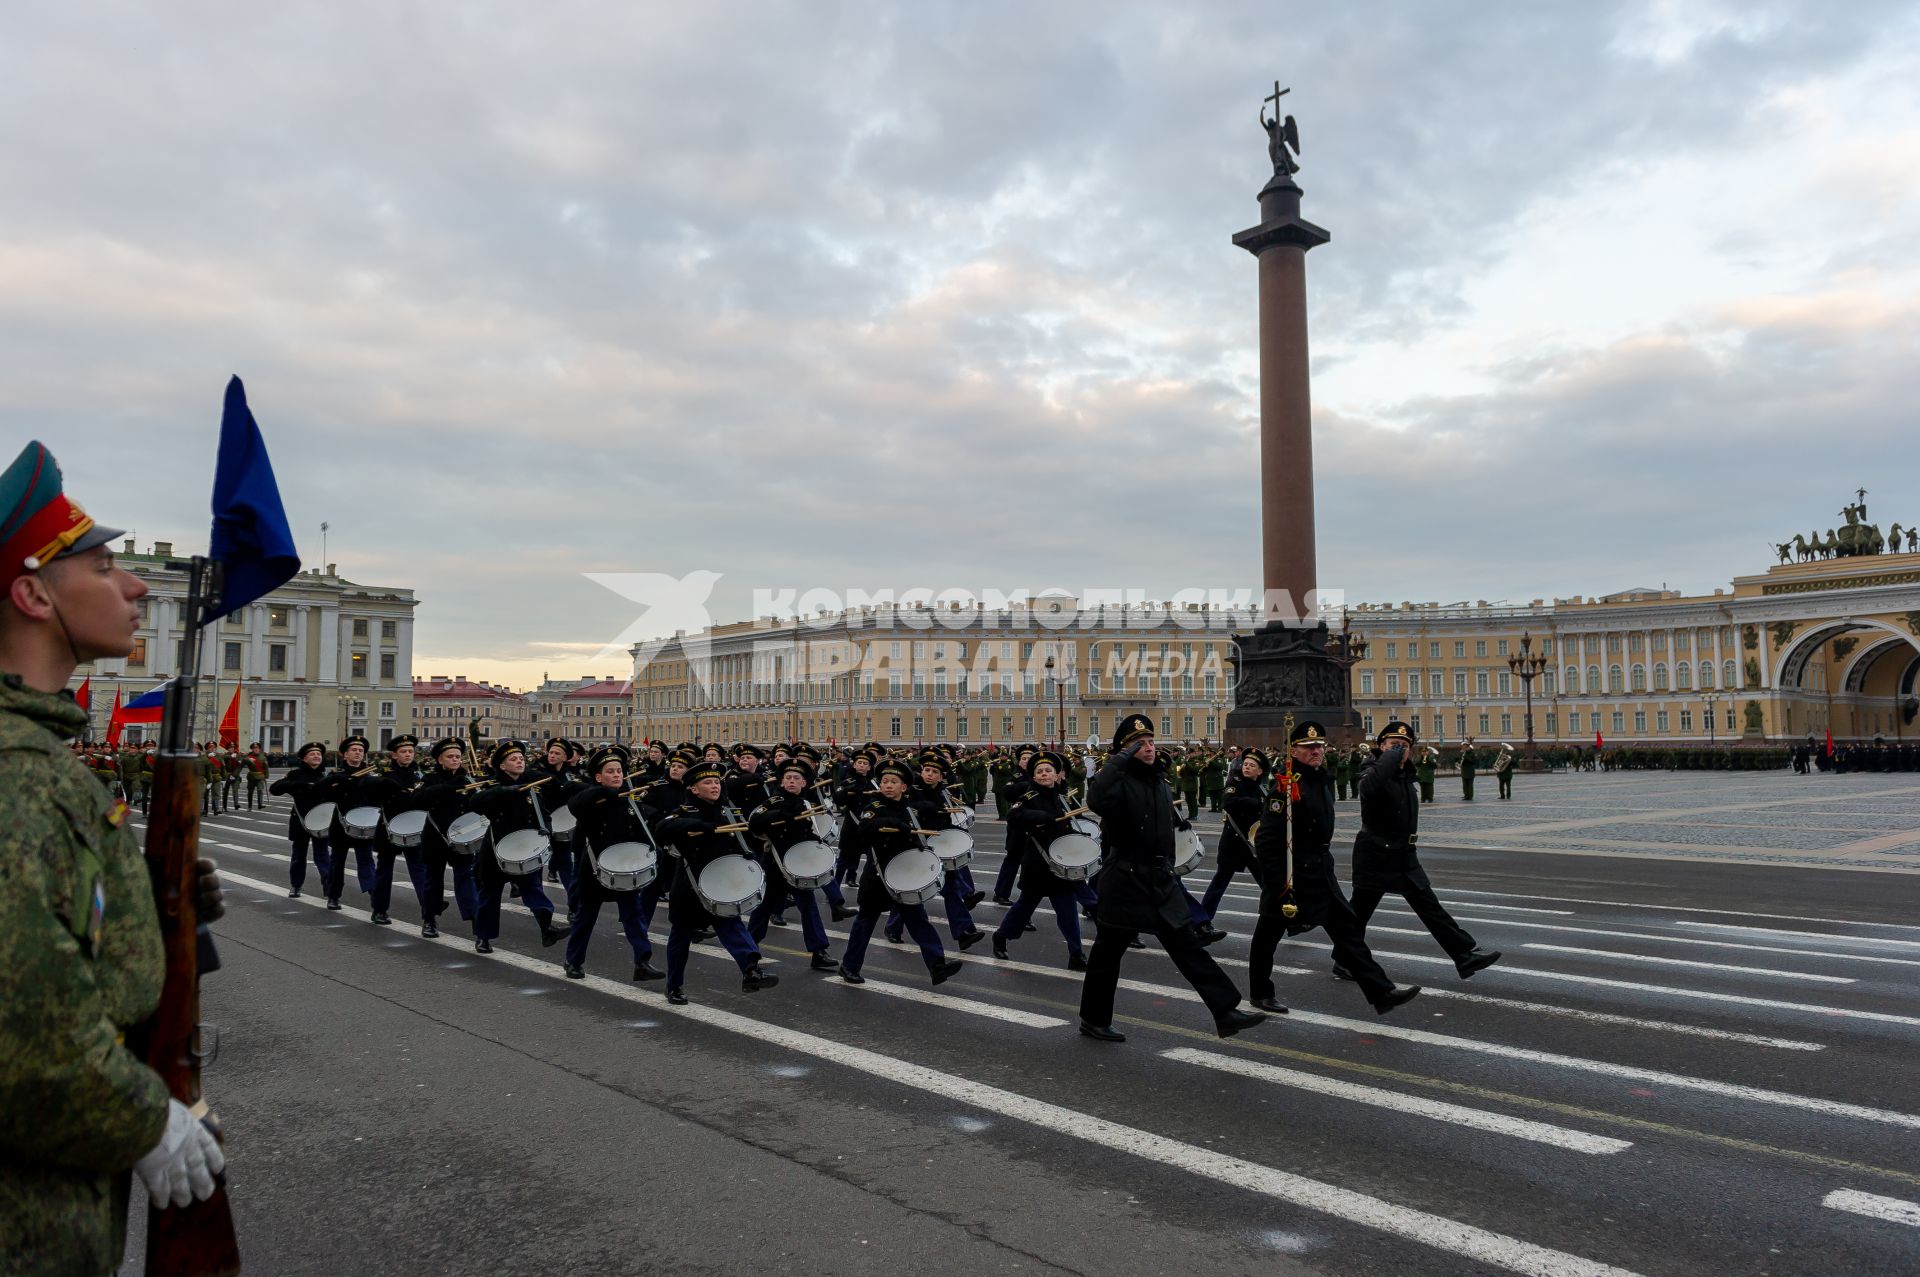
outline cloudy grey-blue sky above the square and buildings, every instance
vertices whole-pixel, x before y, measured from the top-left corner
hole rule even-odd
[[[1910,0],[10,4],[6,447],[204,543],[240,373],[307,561],[516,686],[616,672],[584,572],[1258,584],[1275,77],[1323,586],[1920,518]]]

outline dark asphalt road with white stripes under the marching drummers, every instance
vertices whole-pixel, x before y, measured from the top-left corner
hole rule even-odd
[[[672,1008],[611,908],[568,981],[516,906],[482,956],[420,939],[405,881],[392,928],[351,885],[290,901],[284,824],[204,831],[253,1273],[1920,1271],[1914,874],[1436,847],[1500,966],[1463,983],[1390,903],[1371,939],[1421,999],[1375,1018],[1311,933],[1294,1014],[1223,1043],[1148,949],[1110,1047],[1044,908],[937,991],[883,941],[866,987],[808,972],[789,928],[747,995],[699,945]],[[1212,951],[1242,987],[1254,908],[1242,878]]]

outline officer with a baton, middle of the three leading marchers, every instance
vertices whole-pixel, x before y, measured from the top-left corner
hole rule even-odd
[[[1367,949],[1365,931],[1354,906],[1340,893],[1332,868],[1334,780],[1327,768],[1327,730],[1308,720],[1288,735],[1292,749],[1292,780],[1279,768],[1273,791],[1267,795],[1260,831],[1254,835],[1254,858],[1260,862],[1261,893],[1260,922],[1254,926],[1254,947],[1248,954],[1248,995],[1254,1006],[1284,1012],[1273,997],[1273,949],[1286,933],[1298,935],[1327,928],[1332,958],[1340,970],[1359,981],[1373,1010],[1386,1014],[1413,1000],[1419,985],[1394,987]],[[1288,826],[1292,826],[1288,830]],[[1288,860],[1288,833],[1292,858]],[[1288,872],[1292,881],[1288,883]],[[1292,887],[1288,891],[1288,887]],[[1294,904],[1292,918],[1284,906]]]

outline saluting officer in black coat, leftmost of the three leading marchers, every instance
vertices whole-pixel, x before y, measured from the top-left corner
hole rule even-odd
[[[1154,749],[1154,722],[1146,714],[1127,714],[1114,732],[1114,753],[1087,782],[1087,807],[1100,816],[1100,904],[1094,920],[1100,935],[1087,956],[1087,983],[1081,985],[1081,1033],[1102,1043],[1123,1043],[1114,1031],[1114,989],[1119,960],[1140,931],[1160,937],[1187,983],[1194,987],[1221,1037],[1265,1020],[1240,1010],[1240,991],[1194,935],[1192,908],[1173,876],[1173,791],[1160,753]]]

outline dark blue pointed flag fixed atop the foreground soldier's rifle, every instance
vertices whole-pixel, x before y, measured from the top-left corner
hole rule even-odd
[[[213,469],[213,540],[209,557],[221,565],[221,597],[211,618],[278,590],[300,570],[294,532],[286,526],[280,486],[273,480],[267,442],[246,405],[240,378],[227,382],[221,413],[221,457]]]

